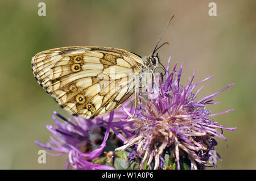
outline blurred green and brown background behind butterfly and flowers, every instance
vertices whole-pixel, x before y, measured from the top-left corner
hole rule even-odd
[[[46,3],[46,16],[38,16],[38,3]],[[216,2],[217,16],[209,16]],[[58,47],[96,45],[152,53],[161,33],[175,15],[159,50],[167,65],[184,62],[181,83],[196,69],[195,82],[203,83],[198,99],[229,83],[235,85],[216,97],[221,104],[212,113],[225,127],[228,139],[218,139],[223,161],[218,169],[256,169],[256,2],[255,1],[0,1],[0,169],[64,169],[67,155],[38,163],[39,146],[51,135],[52,111],[68,116],[38,85],[31,71],[34,54]]]

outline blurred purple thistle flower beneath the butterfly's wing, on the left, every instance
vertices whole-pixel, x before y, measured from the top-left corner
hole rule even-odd
[[[126,107],[130,102],[126,102],[123,106]],[[129,107],[130,112],[134,111],[133,107]],[[138,112],[138,111],[137,111]],[[81,117],[73,117],[73,119],[66,119],[57,112],[53,112],[53,121],[57,127],[47,125],[47,129],[53,134],[47,144],[42,144],[38,141],[35,143],[42,148],[56,151],[57,153],[47,153],[49,155],[68,154],[68,159],[65,168],[73,166],[75,169],[114,169],[113,167],[94,164],[93,159],[100,157],[106,146],[110,129],[117,135],[117,137],[126,141],[119,131],[131,136],[126,131],[131,123],[119,121],[120,119],[127,119],[126,113],[122,109],[110,112],[108,115],[96,119],[86,120]],[[62,121],[59,121],[59,117]],[[106,131],[104,132],[103,129]],[[89,161],[91,160],[91,161]]]

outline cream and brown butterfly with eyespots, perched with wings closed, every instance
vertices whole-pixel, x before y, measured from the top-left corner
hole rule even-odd
[[[167,43],[158,44],[152,55],[145,57],[109,47],[49,49],[32,57],[32,72],[61,108],[73,116],[93,119],[117,109],[136,94],[138,75],[154,72],[160,63],[154,54]]]

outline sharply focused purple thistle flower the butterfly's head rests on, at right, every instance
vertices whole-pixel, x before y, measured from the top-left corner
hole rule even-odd
[[[214,151],[214,146],[217,145],[214,137],[226,140],[222,135],[222,129],[234,131],[236,128],[223,127],[210,119],[212,116],[228,113],[233,109],[210,114],[206,106],[217,104],[212,98],[234,83],[203,99],[195,100],[203,88],[194,93],[195,87],[213,76],[193,83],[194,70],[188,85],[181,86],[180,76],[183,64],[179,71],[176,71],[176,63],[169,74],[170,61],[171,57],[168,60],[166,81],[162,83],[159,77],[159,86],[153,86],[153,91],[147,91],[147,99],[140,96],[141,112],[126,120],[133,123],[133,127],[129,129],[133,132],[133,136],[115,151],[123,151],[135,146],[137,155],[142,156],[141,169],[145,161],[147,166],[154,163],[154,169],[163,169],[163,153],[166,149],[175,153],[177,169],[180,169],[180,155],[187,155],[191,162],[191,169],[197,169],[198,165],[210,166],[207,162],[211,157],[210,150]],[[131,155],[134,157],[134,153]],[[220,158],[218,154],[216,155]],[[153,159],[154,162],[152,162]],[[216,166],[216,163],[213,163],[213,166]]]

